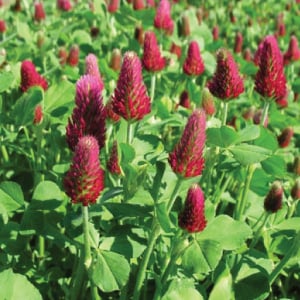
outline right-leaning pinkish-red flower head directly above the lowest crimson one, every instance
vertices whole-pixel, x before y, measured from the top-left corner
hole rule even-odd
[[[185,178],[201,175],[204,168],[205,127],[205,112],[196,109],[189,117],[180,141],[169,154],[169,164],[177,175]]]

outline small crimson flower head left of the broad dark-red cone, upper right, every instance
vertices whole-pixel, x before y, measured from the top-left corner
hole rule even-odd
[[[189,45],[188,55],[183,63],[183,72],[191,76],[197,76],[204,72],[203,59],[196,41],[192,41]]]

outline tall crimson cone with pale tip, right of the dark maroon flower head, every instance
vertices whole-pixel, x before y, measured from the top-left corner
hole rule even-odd
[[[126,52],[112,96],[115,113],[125,120],[141,120],[151,111],[150,98],[143,82],[142,64],[135,52]]]

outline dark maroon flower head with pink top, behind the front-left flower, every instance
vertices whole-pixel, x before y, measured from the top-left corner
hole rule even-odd
[[[67,143],[74,151],[78,140],[92,135],[100,149],[105,143],[105,110],[99,82],[95,76],[84,75],[76,84],[75,108],[66,128]]]

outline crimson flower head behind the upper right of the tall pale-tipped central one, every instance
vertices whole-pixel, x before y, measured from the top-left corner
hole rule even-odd
[[[153,31],[145,33],[142,63],[143,67],[149,72],[161,71],[166,65],[166,60],[161,56]]]

